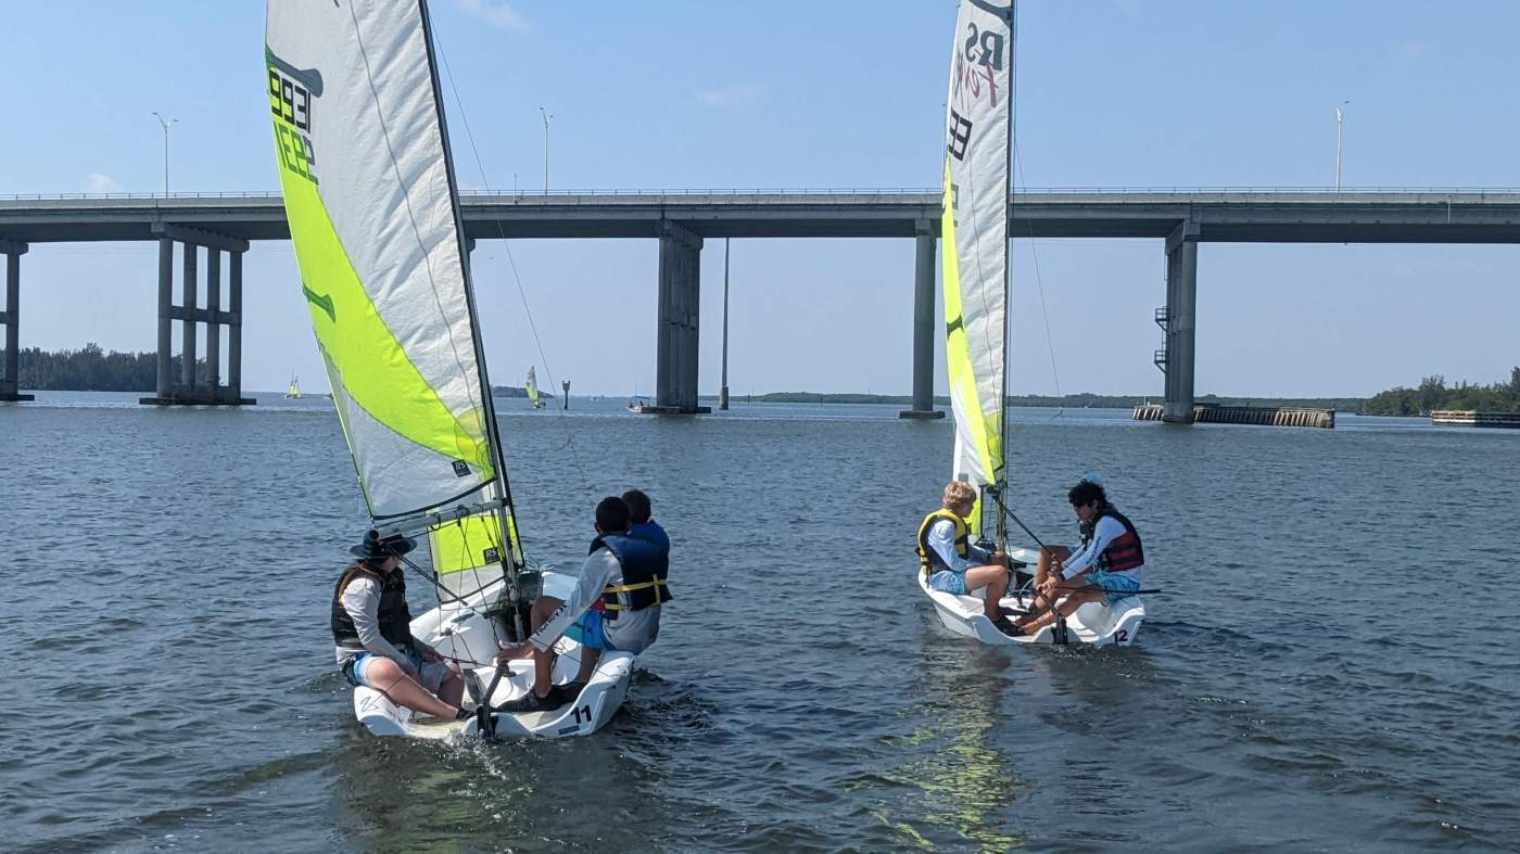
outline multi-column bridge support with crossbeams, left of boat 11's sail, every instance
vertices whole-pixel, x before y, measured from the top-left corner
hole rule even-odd
[[[158,225],[158,378],[154,406],[251,406],[243,397],[243,252],[248,242],[199,228]],[[181,246],[182,304],[175,305],[175,243]],[[205,308],[201,308],[199,257],[205,249]],[[222,252],[228,254],[226,308],[222,307]],[[181,322],[179,377],[175,381],[173,322]],[[205,325],[205,371],[199,328]],[[226,330],[226,383],[222,383],[222,330]]]

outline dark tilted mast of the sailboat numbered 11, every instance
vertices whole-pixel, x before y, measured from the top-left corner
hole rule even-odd
[[[470,269],[470,249],[465,245],[465,222],[464,214],[459,210],[459,184],[454,179],[454,155],[448,144],[448,123],[444,119],[444,93],[438,85],[438,58],[433,53],[433,23],[427,14],[427,0],[416,0],[416,6],[418,12],[423,15],[423,44],[427,49],[427,74],[433,87],[433,105],[438,108],[438,128],[444,144],[444,172],[448,175],[448,204],[453,208],[454,236],[459,242],[459,260],[464,267],[465,305],[470,313],[470,334],[474,337],[476,345],[476,369],[480,377],[480,398],[486,418],[486,442],[491,445],[491,459],[494,460],[497,474],[492,480],[492,492],[496,494],[497,524],[502,530],[502,577],[506,580],[506,603],[508,611],[512,614],[512,629],[515,631],[515,637],[511,640],[523,641],[527,638],[527,632],[523,625],[521,608],[518,608],[523,600],[523,590],[517,577],[521,570],[521,565],[518,564],[521,556],[517,553],[517,524],[512,520],[511,509],[512,489],[506,480],[506,457],[502,453],[502,429],[496,421],[496,401],[491,397],[491,378],[485,366],[485,342],[480,339],[480,318],[476,312],[474,298],[474,274]]]

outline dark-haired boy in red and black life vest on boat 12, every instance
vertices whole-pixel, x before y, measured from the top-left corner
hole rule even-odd
[[[1087,533],[1076,553],[1052,546],[1040,553],[1031,614],[1017,620],[1015,632],[1032,635],[1055,622],[1056,612],[1070,617],[1088,602],[1113,605],[1140,590],[1145,549],[1140,532],[1113,504],[1094,476],[1084,476],[1072,486],[1067,500]],[[1064,597],[1064,599],[1062,599]],[[1052,609],[1052,603],[1059,605]]]

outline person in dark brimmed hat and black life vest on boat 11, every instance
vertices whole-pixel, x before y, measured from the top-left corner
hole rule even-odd
[[[337,667],[353,685],[368,685],[392,702],[435,717],[467,717],[459,701],[465,682],[459,669],[412,637],[401,556],[416,541],[385,539],[369,530],[348,552],[359,558],[333,590],[333,641]]]

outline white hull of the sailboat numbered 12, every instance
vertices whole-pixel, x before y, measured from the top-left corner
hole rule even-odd
[[[1038,555],[1029,549],[1011,549],[1009,556],[1015,561],[1034,564]],[[1044,628],[1034,637],[1009,637],[997,631],[982,609],[982,596],[956,596],[929,587],[929,579],[923,573],[918,576],[918,590],[929,597],[939,623],[952,632],[976,638],[985,644],[1052,644],[1055,631]],[[977,591],[982,593],[982,591]],[[1000,603],[1005,608],[1028,609],[1029,602],[1020,596],[1005,596]],[[1076,609],[1067,620],[1067,643],[1082,646],[1129,646],[1140,632],[1145,622],[1145,603],[1138,596],[1120,599],[1113,605],[1087,603]]]

